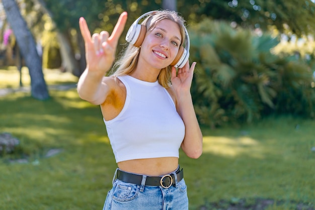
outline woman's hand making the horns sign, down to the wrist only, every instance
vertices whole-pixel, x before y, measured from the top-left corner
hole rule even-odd
[[[89,31],[87,22],[80,18],[80,30],[85,42],[87,70],[104,76],[111,68],[120,35],[127,21],[127,12],[123,12],[113,30],[111,36],[107,31],[93,34]]]

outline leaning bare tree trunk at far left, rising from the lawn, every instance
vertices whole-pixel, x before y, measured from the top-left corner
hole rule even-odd
[[[15,0],[2,0],[7,20],[17,39],[17,43],[24,57],[25,64],[31,77],[31,94],[34,98],[44,100],[49,98],[48,89],[44,80],[42,61],[36,51],[34,38],[21,16]]]

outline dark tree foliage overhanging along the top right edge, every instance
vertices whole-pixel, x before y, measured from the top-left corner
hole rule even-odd
[[[189,11],[195,23],[204,17],[235,22],[242,27],[268,29],[298,36],[315,32],[315,3],[312,0],[199,0],[179,3],[179,11]]]

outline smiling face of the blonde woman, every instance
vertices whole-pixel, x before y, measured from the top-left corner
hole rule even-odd
[[[181,32],[177,23],[164,19],[147,31],[141,45],[139,62],[156,69],[169,66],[175,59],[180,44]]]

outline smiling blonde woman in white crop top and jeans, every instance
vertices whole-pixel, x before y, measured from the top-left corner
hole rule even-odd
[[[111,36],[106,31],[91,36],[80,19],[87,68],[77,90],[100,105],[118,165],[103,209],[188,209],[179,148],[198,158],[202,134],[190,94],[196,63],[189,65],[184,20],[165,10],[139,17],[127,32],[129,44],[116,71],[104,76],[126,20],[123,12]]]

